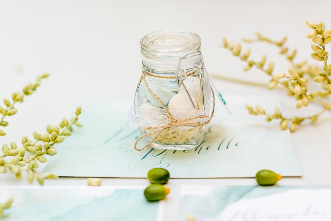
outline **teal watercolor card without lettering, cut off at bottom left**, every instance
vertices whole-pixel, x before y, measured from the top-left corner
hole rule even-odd
[[[145,187],[1,187],[0,200],[14,199],[6,221],[159,221],[163,204],[148,202]],[[2,219],[1,219],[2,220]]]

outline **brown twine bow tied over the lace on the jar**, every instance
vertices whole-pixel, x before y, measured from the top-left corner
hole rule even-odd
[[[214,116],[214,107],[215,107],[215,97],[214,97],[214,92],[213,90],[211,89],[212,93],[213,93],[213,110],[212,110],[212,113],[211,113],[211,116],[204,116],[204,117],[199,117],[199,116],[196,116],[196,117],[191,117],[191,118],[186,118],[186,119],[183,119],[183,120],[179,120],[179,119],[175,119],[172,114],[170,113],[169,109],[166,107],[166,105],[162,102],[162,100],[151,90],[151,88],[147,85],[147,82],[146,82],[146,79],[145,79],[145,74],[147,74],[144,70],[142,72],[142,76],[141,78],[143,79],[147,89],[149,90],[149,92],[151,92],[155,97],[156,99],[162,104],[162,106],[164,107],[164,109],[166,110],[166,112],[168,113],[169,115],[169,118],[170,118],[170,121],[168,124],[166,125],[163,125],[163,126],[155,126],[155,127],[142,127],[141,130],[144,130],[144,131],[147,131],[147,130],[151,130],[151,129],[159,129],[158,131],[152,131],[150,133],[147,133],[147,134],[144,134],[142,136],[140,136],[136,142],[134,143],[134,149],[136,150],[144,150],[146,149],[149,145],[151,145],[151,143],[153,143],[158,137],[159,135],[171,128],[171,127],[199,127],[199,126],[204,126],[206,124],[209,124],[209,122],[212,120],[212,117]],[[201,119],[201,118],[209,118],[206,122],[204,123],[201,123],[200,121],[194,121],[195,119]],[[139,140],[141,140],[142,138],[146,137],[146,136],[150,136],[152,134],[155,134],[155,137],[146,145],[144,146],[143,148],[141,149],[138,149],[137,148],[137,144],[139,142]]]

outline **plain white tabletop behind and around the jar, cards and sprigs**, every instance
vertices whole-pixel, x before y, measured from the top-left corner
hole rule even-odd
[[[220,45],[222,37],[235,41],[254,38],[255,32],[272,39],[288,37],[290,48],[297,48],[296,61],[310,58],[311,40],[307,19],[324,21],[331,29],[331,1],[0,1],[0,97],[11,97],[28,82],[46,72],[51,76],[42,81],[35,94],[17,104],[15,116],[6,118],[3,143],[20,143],[24,135],[44,131],[49,123],[74,113],[72,103],[82,95],[108,94],[134,96],[140,78],[140,39],[161,29],[187,29],[201,36],[205,65],[210,74],[237,79],[268,82],[257,69],[242,71],[245,64]],[[289,64],[277,49],[264,43],[243,45],[252,48],[252,58],[266,54],[275,61],[275,72],[285,72]],[[328,48],[328,47],[327,47]],[[329,49],[330,50],[330,49]],[[318,108],[309,105],[296,111],[293,98],[282,91],[268,91],[235,83],[215,80],[218,89],[227,94],[276,94],[282,98],[284,114],[305,115]],[[284,98],[283,98],[284,97]],[[1,104],[2,105],[2,104]],[[109,105],[109,104],[105,104]],[[243,104],[244,105],[244,104]],[[2,105],[3,106],[3,105]],[[226,114],[225,112],[220,114]],[[83,118],[83,114],[81,115]],[[279,185],[331,184],[331,114],[324,113],[315,125],[298,127],[292,134],[302,166],[302,178],[284,178]],[[259,120],[257,119],[257,122]],[[60,146],[60,145],[59,145]],[[41,166],[41,164],[40,164]],[[43,166],[38,171],[41,172]],[[17,182],[11,173],[0,175],[0,185],[28,185],[26,176]],[[87,179],[61,178],[46,180],[45,185],[86,185]],[[146,179],[103,179],[102,185],[148,185]],[[167,186],[164,220],[177,220],[180,185],[218,184],[255,185],[247,179],[171,179]],[[36,182],[32,185],[38,185]]]

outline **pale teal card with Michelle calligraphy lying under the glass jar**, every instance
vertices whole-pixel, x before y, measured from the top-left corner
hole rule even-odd
[[[146,178],[148,170],[164,167],[172,178],[254,177],[261,169],[301,176],[290,132],[281,131],[279,122],[270,124],[264,117],[249,115],[243,108],[248,101],[259,103],[249,97],[228,98],[232,115],[220,104],[216,106],[204,141],[192,150],[137,151],[134,142],[141,134],[127,126],[132,99],[81,99],[79,105],[88,106],[79,116],[83,127],[56,145],[57,154],[49,157],[43,174]],[[274,99],[268,98],[264,104],[273,108]]]

